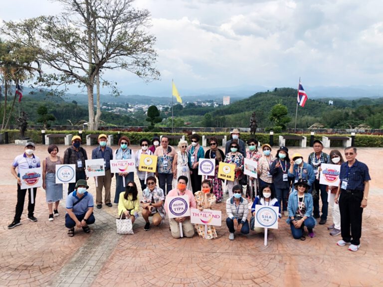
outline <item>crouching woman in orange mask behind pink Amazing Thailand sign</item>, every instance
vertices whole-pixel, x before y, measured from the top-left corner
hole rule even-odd
[[[199,210],[211,209],[211,206],[215,204],[215,195],[212,193],[210,180],[205,179],[202,181],[202,190],[194,193],[194,199]],[[217,238],[215,227],[212,225],[207,225],[207,234],[205,234],[204,224],[194,224],[194,227],[199,237],[205,239]]]

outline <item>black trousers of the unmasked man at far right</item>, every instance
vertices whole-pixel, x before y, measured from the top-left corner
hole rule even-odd
[[[339,196],[342,239],[354,245],[360,244],[360,238],[362,236],[362,199],[363,191],[347,192],[342,189],[341,195]]]

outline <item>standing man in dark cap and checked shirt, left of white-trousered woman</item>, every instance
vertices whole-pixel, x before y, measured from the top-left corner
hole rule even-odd
[[[315,173],[314,188],[316,190],[316,196],[314,196],[314,218],[321,218],[319,224],[325,224],[327,221],[327,213],[329,208],[329,203],[327,202],[327,185],[319,184],[319,172],[321,171],[322,163],[332,163],[330,161],[330,156],[323,152],[323,143],[319,140],[315,140],[313,144],[314,152],[311,152],[308,159],[308,164],[310,164]],[[322,215],[319,215],[319,193],[322,199]]]

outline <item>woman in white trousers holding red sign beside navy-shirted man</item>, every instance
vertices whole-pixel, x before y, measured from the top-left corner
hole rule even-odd
[[[338,149],[330,151],[330,158],[332,164],[341,165],[344,161],[342,153]],[[333,209],[333,224],[327,229],[330,230],[330,235],[338,236],[341,234],[341,213],[339,211],[339,204],[335,202],[335,194],[337,193],[338,186],[329,186],[328,192],[330,193],[329,206]]]

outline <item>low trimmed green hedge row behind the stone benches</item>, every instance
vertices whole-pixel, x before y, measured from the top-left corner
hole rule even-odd
[[[18,130],[7,130],[8,132],[8,139],[9,143],[14,143],[14,140],[19,139],[19,131]],[[72,134],[72,135],[78,135],[78,132],[76,131],[46,131],[47,134]],[[103,132],[97,131],[97,132],[92,132],[92,131],[83,131],[83,139],[85,142],[86,135],[89,134],[101,134]],[[115,131],[108,131],[107,135],[114,135],[114,143],[117,144],[117,135],[118,132]],[[160,133],[153,133],[153,132],[121,132],[121,136],[127,136],[132,144],[138,144],[141,139],[149,139],[152,140],[155,135],[161,135]],[[174,136],[176,135],[185,135],[186,139],[189,139],[191,134],[184,134],[184,133],[174,133],[172,134]],[[230,138],[229,133],[198,133],[198,135],[201,136],[227,136],[227,139]],[[294,134],[274,134],[274,145],[278,144],[278,136],[279,135],[290,135],[293,136]],[[31,141],[34,143],[42,143],[41,142],[41,132],[40,131],[26,131],[25,136],[29,137]],[[310,145],[310,135],[309,134],[302,134],[300,136],[305,136],[307,137],[307,146]],[[322,136],[340,136],[344,137],[345,135],[326,135],[326,134],[318,134],[314,136],[314,139],[316,140],[322,140]],[[251,135],[249,133],[242,133],[241,134],[241,139],[244,141],[247,141],[248,139],[251,138]],[[260,143],[269,143],[270,136],[269,134],[255,134],[255,138],[260,142]],[[57,143],[64,143],[64,139],[54,139],[57,141]],[[178,143],[178,140],[171,140],[171,144],[176,145]],[[298,145],[298,141],[292,141],[292,140],[287,140],[286,145],[288,146],[294,146]],[[356,135],[355,137],[355,145],[359,147],[383,147],[383,136],[375,136],[375,135]],[[340,141],[332,141],[331,146],[342,146],[342,142]]]

